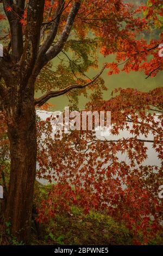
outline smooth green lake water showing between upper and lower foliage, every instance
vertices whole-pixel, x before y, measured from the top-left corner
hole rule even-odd
[[[101,70],[103,64],[105,62],[112,62],[115,60],[114,56],[104,57],[99,53],[99,68],[98,70],[90,70],[87,75],[92,78],[98,74],[99,70]],[[58,64],[58,60],[54,59],[53,62],[55,65]],[[123,65],[122,65],[123,68]],[[108,76],[108,70],[105,70],[102,74],[102,78],[105,81],[105,86],[108,88],[107,91],[103,92],[103,99],[108,100],[110,98],[112,90],[115,88],[135,88],[137,90],[141,90],[143,92],[148,92],[149,90],[153,90],[156,87],[162,87],[162,74],[163,71],[160,71],[156,77],[149,77],[146,79],[146,75],[143,72],[130,72],[126,74],[125,72],[120,72],[117,75]],[[90,91],[89,91],[90,92]],[[41,96],[41,92],[37,92],[35,94],[36,97]],[[89,95],[89,93],[88,93]],[[79,109],[82,110],[85,106],[85,103],[88,102],[89,99],[86,99],[83,95],[79,96]],[[54,105],[54,110],[63,111],[65,106],[69,105],[69,101],[66,95],[55,97],[49,100],[50,103]]]

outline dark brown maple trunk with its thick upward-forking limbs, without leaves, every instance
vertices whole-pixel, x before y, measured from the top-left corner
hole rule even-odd
[[[81,0],[73,1],[66,25],[58,42],[53,45],[64,2],[59,1],[51,32],[47,35],[43,45],[40,45],[45,0],[28,1],[25,29],[20,19],[23,17],[26,1],[15,3],[3,0],[4,11],[10,24],[12,50],[11,53],[8,51],[3,58],[0,58],[0,80],[2,76],[5,82],[5,84],[0,84],[0,105],[3,105],[2,109],[7,114],[11,161],[4,217],[5,222],[11,223],[11,234],[15,235],[18,240],[26,242],[30,237],[36,172],[34,83],[43,66],[61,52],[82,4]],[[8,7],[12,11],[7,11]],[[46,99],[44,97],[44,100],[47,100],[47,97]]]

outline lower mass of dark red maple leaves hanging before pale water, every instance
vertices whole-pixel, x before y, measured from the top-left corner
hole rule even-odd
[[[161,229],[162,220],[158,187],[163,182],[163,90],[117,89],[117,93],[100,106],[93,99],[87,110],[111,111],[112,135],[128,130],[129,137],[114,141],[90,131],[52,135],[53,118],[38,123],[39,135],[45,132],[45,139],[39,139],[37,177],[57,182],[42,201],[38,221],[47,221],[62,210],[70,212],[72,205],[78,205],[85,212],[108,212],[133,231],[135,243],[148,243]],[[143,163],[147,144],[158,154],[159,164]]]

